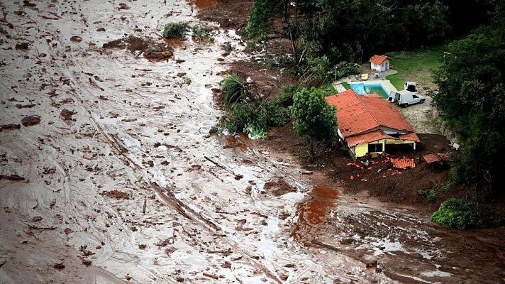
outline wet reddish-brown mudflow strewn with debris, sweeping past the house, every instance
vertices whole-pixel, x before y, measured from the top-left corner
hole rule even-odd
[[[216,23],[213,42],[159,35],[211,2],[0,4],[1,283],[502,280],[501,229],[442,229],[313,187],[296,152],[209,136],[212,89],[251,55]]]

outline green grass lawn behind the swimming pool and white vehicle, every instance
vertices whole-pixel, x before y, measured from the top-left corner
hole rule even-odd
[[[408,51],[386,53],[393,58],[391,62],[395,75],[386,78],[391,81],[396,89],[404,89],[405,81],[417,82],[419,86],[434,88],[432,70],[437,70],[442,65],[443,52],[447,50],[448,42],[440,45],[418,48]]]

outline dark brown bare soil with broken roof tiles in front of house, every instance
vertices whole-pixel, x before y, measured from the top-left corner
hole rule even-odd
[[[442,190],[447,181],[448,167],[428,165],[422,155],[428,153],[446,153],[451,151],[449,141],[440,135],[418,134],[421,143],[416,151],[398,151],[388,154],[391,158],[413,158],[416,168],[397,170],[386,158],[373,158],[365,167],[360,160],[353,162],[347,151],[340,148],[316,148],[316,155],[310,159],[309,145],[303,138],[296,136],[292,124],[272,129],[270,139],[262,141],[270,152],[289,153],[301,161],[306,170],[313,172],[314,184],[329,187],[341,187],[348,194],[376,197],[382,202],[395,202],[417,207],[423,212],[435,211],[448,197],[465,197],[470,191],[463,186],[452,190]],[[365,162],[366,159],[363,160]],[[420,190],[435,189],[435,200],[426,200]]]

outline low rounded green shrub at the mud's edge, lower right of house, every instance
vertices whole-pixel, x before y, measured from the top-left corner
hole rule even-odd
[[[460,230],[484,228],[497,222],[484,205],[453,197],[440,204],[440,208],[431,215],[431,221]]]

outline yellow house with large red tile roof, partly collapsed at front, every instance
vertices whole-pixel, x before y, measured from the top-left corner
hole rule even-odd
[[[326,101],[337,107],[338,136],[353,159],[399,147],[416,150],[420,142],[400,111],[382,97],[348,89],[326,97]]]

